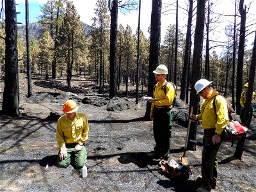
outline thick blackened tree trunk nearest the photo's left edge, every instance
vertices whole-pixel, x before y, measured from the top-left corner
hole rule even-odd
[[[5,1],[5,76],[2,111],[19,116],[19,74],[15,0]]]

